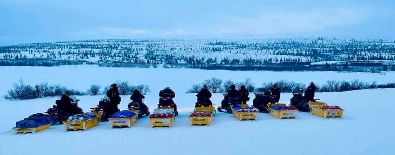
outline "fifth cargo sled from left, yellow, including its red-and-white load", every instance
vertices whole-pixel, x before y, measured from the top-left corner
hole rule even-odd
[[[210,125],[215,116],[214,107],[195,107],[189,116],[191,125]]]

